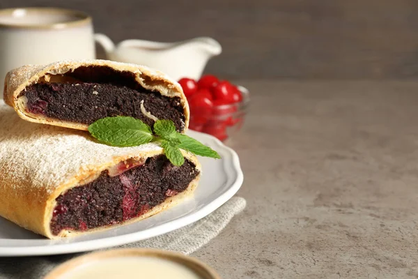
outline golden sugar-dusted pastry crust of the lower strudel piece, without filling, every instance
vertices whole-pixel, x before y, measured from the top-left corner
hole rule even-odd
[[[50,239],[113,227],[86,232],[63,231],[54,236],[49,223],[55,199],[61,193],[92,181],[123,160],[142,160],[163,153],[163,149],[153,143],[124,148],[107,146],[94,142],[84,131],[29,123],[1,100],[0,127],[0,216]],[[196,156],[182,153],[201,171]],[[199,176],[184,192],[125,223],[152,216],[178,203],[192,194],[198,181]]]

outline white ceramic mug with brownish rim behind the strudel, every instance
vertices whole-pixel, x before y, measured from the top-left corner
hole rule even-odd
[[[13,68],[65,59],[95,59],[89,15],[61,8],[0,10],[1,90],[6,73]]]

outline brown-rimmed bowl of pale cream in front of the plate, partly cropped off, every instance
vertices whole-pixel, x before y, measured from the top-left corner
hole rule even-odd
[[[198,260],[154,249],[116,249],[76,257],[56,267],[45,279],[87,278],[220,279]]]

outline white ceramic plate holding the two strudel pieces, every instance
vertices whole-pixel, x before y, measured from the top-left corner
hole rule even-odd
[[[215,211],[242,184],[238,155],[215,137],[194,131],[188,134],[222,156],[221,160],[199,158],[203,174],[194,197],[138,223],[60,240],[45,239],[0,217],[0,256],[54,255],[118,246],[171,232]]]

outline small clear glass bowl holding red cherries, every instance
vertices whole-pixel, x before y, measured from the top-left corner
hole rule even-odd
[[[222,142],[236,135],[244,123],[249,107],[248,89],[237,87],[242,94],[239,103],[216,105],[211,110],[207,107],[194,107],[190,111],[189,129],[207,133]]]

